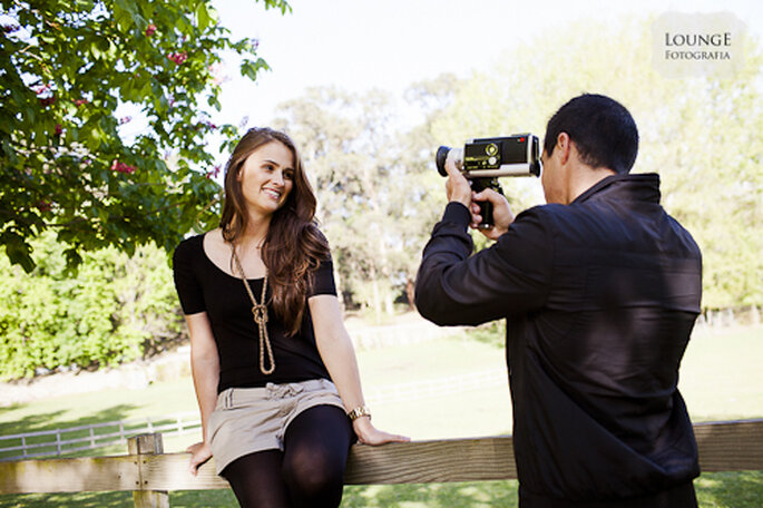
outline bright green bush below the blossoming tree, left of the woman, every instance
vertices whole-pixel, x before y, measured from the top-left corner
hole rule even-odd
[[[179,339],[182,314],[164,251],[88,253],[71,274],[51,234],[35,250],[41,255],[31,274],[0,258],[0,379],[114,365]]]

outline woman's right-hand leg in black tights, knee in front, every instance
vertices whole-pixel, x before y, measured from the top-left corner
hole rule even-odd
[[[352,439],[350,420],[336,406],[315,406],[288,424],[283,476],[295,508],[340,505]]]

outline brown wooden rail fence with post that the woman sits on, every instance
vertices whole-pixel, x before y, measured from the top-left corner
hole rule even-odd
[[[705,472],[763,470],[763,420],[696,423]],[[348,485],[517,478],[511,437],[354,446]],[[187,453],[164,453],[162,434],[128,441],[128,455],[0,462],[0,494],[131,490],[136,507],[168,507],[168,491],[228,488],[213,461],[188,472]]]

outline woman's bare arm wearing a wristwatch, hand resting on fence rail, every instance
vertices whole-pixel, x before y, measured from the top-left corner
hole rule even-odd
[[[332,381],[336,385],[342,402],[344,402],[344,408],[348,411],[352,411],[355,408],[365,406],[355,350],[344,328],[339,300],[331,294],[319,294],[311,296],[307,303],[313,318],[317,351],[329,370]],[[370,417],[356,418],[352,422],[352,427],[360,442],[365,444],[409,441],[407,437],[378,430],[371,423]]]

